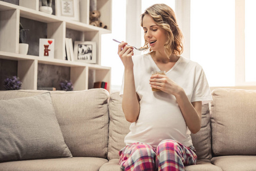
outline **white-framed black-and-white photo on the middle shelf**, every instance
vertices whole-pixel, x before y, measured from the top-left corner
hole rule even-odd
[[[74,44],[75,61],[96,63],[96,42],[75,41]]]

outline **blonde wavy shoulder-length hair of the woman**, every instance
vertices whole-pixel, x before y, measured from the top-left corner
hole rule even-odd
[[[165,54],[168,56],[171,54],[181,55],[183,52],[183,34],[178,27],[176,16],[172,8],[165,4],[155,4],[148,7],[143,14],[141,14],[140,25],[143,27],[143,18],[148,14],[150,15],[156,24],[166,31],[168,35],[168,41],[165,43]],[[144,38],[145,39],[145,38]],[[145,39],[144,47],[152,52],[148,41]]]

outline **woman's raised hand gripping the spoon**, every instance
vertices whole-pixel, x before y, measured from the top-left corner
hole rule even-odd
[[[127,46],[127,42],[121,42],[118,46],[118,55],[124,64],[124,68],[133,68],[133,47]]]

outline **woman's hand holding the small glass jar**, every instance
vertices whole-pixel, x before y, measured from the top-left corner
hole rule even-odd
[[[181,87],[178,86],[173,80],[169,79],[166,75],[151,75],[149,80],[152,88],[160,89],[163,92],[176,96],[181,91]]]

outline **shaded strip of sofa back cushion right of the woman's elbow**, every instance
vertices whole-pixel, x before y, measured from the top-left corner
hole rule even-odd
[[[198,160],[212,158],[209,104],[202,105],[201,129],[191,134]]]

